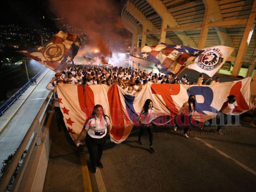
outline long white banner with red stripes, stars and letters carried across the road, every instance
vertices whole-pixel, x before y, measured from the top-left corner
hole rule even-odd
[[[216,83],[214,85],[156,84],[148,82],[135,96],[131,96],[120,86],[58,84],[60,108],[66,126],[73,139],[77,139],[85,120],[93,107],[100,104],[111,120],[111,140],[124,141],[134,124],[146,99],[151,99],[155,109],[154,123],[171,124],[188,96],[195,95],[195,120],[206,121],[216,117],[227,96],[235,95],[237,106],[233,113],[240,114],[251,109],[251,78],[239,81]],[[202,119],[203,117],[203,119]]]

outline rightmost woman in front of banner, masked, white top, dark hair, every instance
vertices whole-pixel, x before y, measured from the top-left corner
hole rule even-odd
[[[231,117],[232,112],[233,112],[235,106],[237,106],[236,102],[235,102],[235,96],[234,95],[230,95],[227,98],[228,98],[228,101],[223,103],[223,105],[221,107],[221,110],[219,111],[219,113],[223,114],[224,125],[227,124],[228,118]],[[217,126],[217,131],[215,131],[215,132],[217,132],[220,135],[223,135],[223,133],[221,131],[221,127],[222,127],[221,124],[222,124],[222,122],[220,120],[220,116],[217,115],[217,118],[219,119],[219,123],[218,123],[218,126]]]

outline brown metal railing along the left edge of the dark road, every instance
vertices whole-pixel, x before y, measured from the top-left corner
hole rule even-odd
[[[53,102],[52,98],[53,98],[53,93],[52,93],[52,91],[50,91],[47,98],[43,102],[43,105],[41,106],[40,110],[38,111],[35,119],[33,120],[32,124],[30,125],[29,129],[27,130],[26,135],[24,136],[20,146],[18,147],[16,153],[14,154],[8,167],[6,168],[5,172],[3,173],[3,175],[0,179],[0,192],[4,192],[6,190],[6,187],[8,186],[8,184],[13,176],[13,173],[15,172],[17,165],[19,164],[19,161],[23,155],[24,150],[26,149],[26,146],[32,136],[32,133],[34,132],[33,139],[29,145],[25,159],[22,162],[21,168],[20,168],[19,173],[14,181],[11,191],[17,191],[17,189],[19,188],[19,185],[20,185],[22,177],[25,173],[26,167],[28,165],[28,162],[29,162],[29,159],[30,159],[30,156],[32,154],[34,147],[41,145],[42,142],[44,142],[45,138],[43,138],[43,136],[42,136],[42,126],[46,119],[47,112],[52,105],[52,102]],[[40,119],[41,119],[41,121],[40,121]]]

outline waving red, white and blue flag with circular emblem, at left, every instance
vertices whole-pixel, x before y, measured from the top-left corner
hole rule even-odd
[[[77,35],[59,31],[50,42],[43,47],[17,51],[55,72],[61,72],[73,61],[81,46]]]

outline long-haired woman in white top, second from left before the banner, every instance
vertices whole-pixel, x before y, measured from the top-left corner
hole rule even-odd
[[[141,135],[143,134],[145,128],[147,128],[148,134],[149,134],[149,142],[150,142],[149,149],[151,153],[155,152],[153,148],[153,127],[150,124],[150,122],[153,120],[153,117],[154,117],[153,102],[150,99],[147,99],[144,103],[143,109],[139,116],[139,121],[142,123],[142,125],[140,126],[139,138],[137,142],[139,145],[142,145]]]

